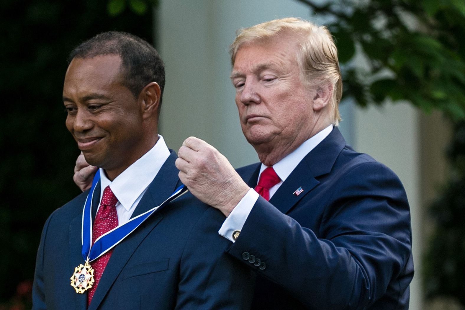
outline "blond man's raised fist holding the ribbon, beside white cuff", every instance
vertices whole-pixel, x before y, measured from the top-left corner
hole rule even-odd
[[[202,202],[229,216],[250,189],[225,156],[210,144],[189,137],[179,148],[179,179]]]

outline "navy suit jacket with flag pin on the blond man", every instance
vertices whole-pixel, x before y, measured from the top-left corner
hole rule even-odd
[[[259,169],[238,172],[254,187]],[[408,309],[411,245],[398,177],[334,128],[270,202],[259,197],[227,251],[259,273],[252,309],[399,310]]]

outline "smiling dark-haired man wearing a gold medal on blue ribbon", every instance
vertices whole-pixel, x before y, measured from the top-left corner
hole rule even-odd
[[[131,34],[99,34],[71,53],[66,127],[100,168],[45,223],[33,309],[249,308],[251,272],[212,234],[221,212],[189,193],[162,204],[182,193],[157,131],[164,84],[157,51]]]

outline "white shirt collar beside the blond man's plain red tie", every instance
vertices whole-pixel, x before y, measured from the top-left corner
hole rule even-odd
[[[320,142],[322,142],[332,131],[332,125],[329,125],[325,129],[321,130],[318,134],[313,135],[310,139],[306,140],[304,143],[300,144],[298,148],[292,151],[291,154],[286,155],[283,159],[273,165],[273,169],[276,174],[279,176],[281,181],[286,181],[287,177],[291,172],[297,167],[299,162],[304,159],[304,157],[310,153],[310,151],[315,148]],[[267,166],[261,164],[260,174]]]

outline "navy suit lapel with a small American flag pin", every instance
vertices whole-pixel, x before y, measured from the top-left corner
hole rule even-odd
[[[308,153],[297,165],[286,181],[271,197],[270,203],[282,213],[287,213],[318,184],[318,177],[329,173],[345,147],[345,140],[335,127],[332,132]],[[294,194],[299,188],[299,195]]]

